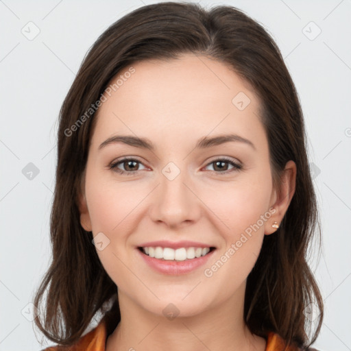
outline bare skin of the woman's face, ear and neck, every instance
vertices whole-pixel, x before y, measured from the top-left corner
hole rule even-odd
[[[278,192],[258,117],[260,101],[226,64],[187,54],[133,67],[135,73],[98,110],[80,196],[83,228],[110,240],[97,254],[119,289],[121,322],[106,350],[265,350],[265,339],[253,335],[243,320],[245,285],[264,235],[276,231],[272,224],[280,223],[289,206],[295,163],[287,162]],[[239,92],[251,100],[244,110],[232,104]],[[247,138],[254,147],[235,141],[194,149],[203,136],[228,133]],[[98,149],[115,134],[149,138],[156,149],[123,143]],[[123,156],[141,162],[118,166],[136,175],[109,168]],[[221,156],[242,169],[230,163],[216,167],[213,162]],[[173,180],[162,173],[169,162],[180,171]],[[204,269],[269,208],[275,213],[206,277]],[[216,250],[204,267],[167,276],[146,265],[136,250],[143,242],[167,239],[208,243]],[[169,303],[179,310],[172,320],[162,313]]]

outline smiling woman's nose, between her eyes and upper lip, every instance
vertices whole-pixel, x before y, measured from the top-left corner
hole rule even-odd
[[[160,173],[160,184],[154,191],[150,216],[153,221],[162,222],[169,228],[180,228],[199,219],[202,202],[186,171],[180,171],[172,178],[167,172]]]

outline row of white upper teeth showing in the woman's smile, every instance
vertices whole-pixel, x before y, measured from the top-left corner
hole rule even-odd
[[[143,252],[150,257],[164,259],[167,261],[185,261],[192,258],[205,256],[210,252],[210,247],[181,247],[180,249],[171,249],[170,247],[143,247]]]

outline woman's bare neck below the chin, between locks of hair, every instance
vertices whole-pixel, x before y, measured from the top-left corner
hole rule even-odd
[[[238,304],[234,296],[197,315],[169,320],[145,310],[119,291],[121,322],[108,337],[106,351],[264,351],[266,341],[245,325],[243,298],[240,301]]]

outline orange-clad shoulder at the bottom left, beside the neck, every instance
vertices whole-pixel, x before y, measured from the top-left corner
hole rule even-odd
[[[93,330],[83,335],[73,346],[50,346],[41,351],[105,351],[106,324],[102,320]]]

